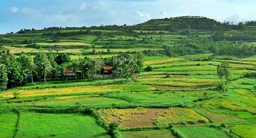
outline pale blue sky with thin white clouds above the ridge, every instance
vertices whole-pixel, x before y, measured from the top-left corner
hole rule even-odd
[[[256,20],[256,0],[0,0],[0,34],[20,29],[134,25],[156,18],[204,16]]]

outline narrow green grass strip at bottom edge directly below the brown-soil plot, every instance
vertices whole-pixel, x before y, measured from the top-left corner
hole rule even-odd
[[[145,130],[145,131],[132,131],[132,132],[121,132],[123,138],[175,138],[170,130]]]

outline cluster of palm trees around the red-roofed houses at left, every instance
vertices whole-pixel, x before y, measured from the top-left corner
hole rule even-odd
[[[34,76],[36,76],[37,79],[43,77],[45,83],[47,77],[51,79],[59,79],[61,76],[64,77],[64,68],[72,69],[75,72],[76,79],[77,72],[82,72],[83,78],[85,78],[86,75],[87,78],[91,79],[91,77],[96,77],[98,74],[101,74],[101,69],[105,64],[105,60],[107,60],[107,65],[113,66],[113,75],[115,78],[126,78],[126,81],[128,81],[129,78],[131,78],[131,80],[134,79],[135,74],[139,72],[139,68],[141,68],[142,65],[139,65],[138,61],[140,60],[132,58],[130,55],[112,56],[110,59],[105,60],[101,56],[95,58],[85,57],[83,59],[74,59],[57,65],[54,57],[53,59],[50,59],[50,55],[45,55],[43,53],[34,57],[34,60],[31,57],[26,56],[15,58],[10,53],[0,54],[0,81],[3,85],[3,88],[0,88],[0,90],[4,90],[7,81],[10,82],[10,80],[13,79],[13,73],[10,73],[11,69],[18,72],[14,78],[17,79],[20,77],[19,80],[22,80],[22,83],[24,82],[23,74],[28,73],[31,76],[33,84]],[[15,79],[12,82],[16,82]],[[11,84],[9,82],[8,85]],[[18,86],[18,84],[14,84],[14,86]]]

